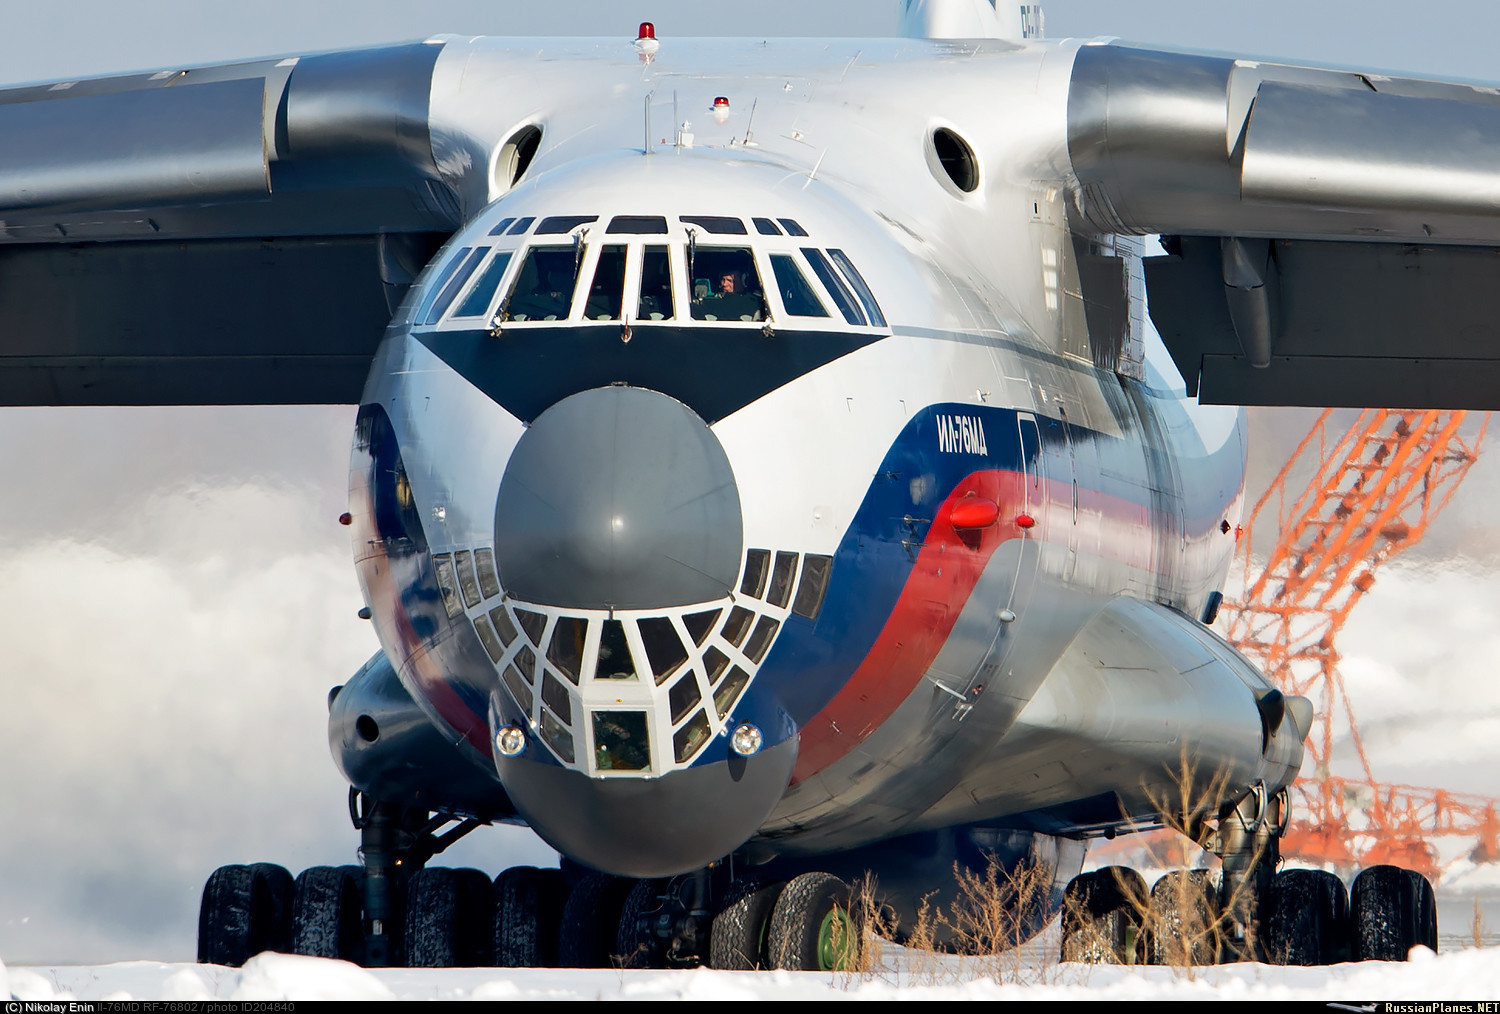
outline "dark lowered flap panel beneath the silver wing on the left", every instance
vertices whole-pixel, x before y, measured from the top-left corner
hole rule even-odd
[[[381,254],[376,237],[0,246],[0,405],[357,404],[390,316]]]

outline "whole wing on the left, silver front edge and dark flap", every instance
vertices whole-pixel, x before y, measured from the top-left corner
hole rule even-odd
[[[460,224],[441,42],[0,92],[0,404],[354,404]]]

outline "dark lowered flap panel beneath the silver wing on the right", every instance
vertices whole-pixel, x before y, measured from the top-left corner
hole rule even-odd
[[[1220,243],[1173,248],[1146,262],[1150,315],[1206,402],[1500,408],[1500,250],[1275,243],[1272,357],[1252,369],[1224,298]]]

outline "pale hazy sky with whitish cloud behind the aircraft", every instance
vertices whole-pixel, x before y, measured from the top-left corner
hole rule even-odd
[[[1500,4],[1046,9],[1052,38],[1500,76]],[[666,38],[888,34],[896,24],[894,0],[12,3],[0,78],[440,32],[628,36],[640,20]],[[1272,446],[1308,422],[1278,418],[1260,417]],[[352,410],[0,410],[0,958],[188,958],[214,866],[354,860],[324,711],[328,687],[375,650],[334,524]],[[1258,482],[1270,465],[1257,458]],[[1500,794],[1497,471],[1474,470],[1428,552],[1382,578],[1341,644],[1371,752],[1394,780]],[[520,834],[478,832],[454,858],[498,872],[538,856]]]

